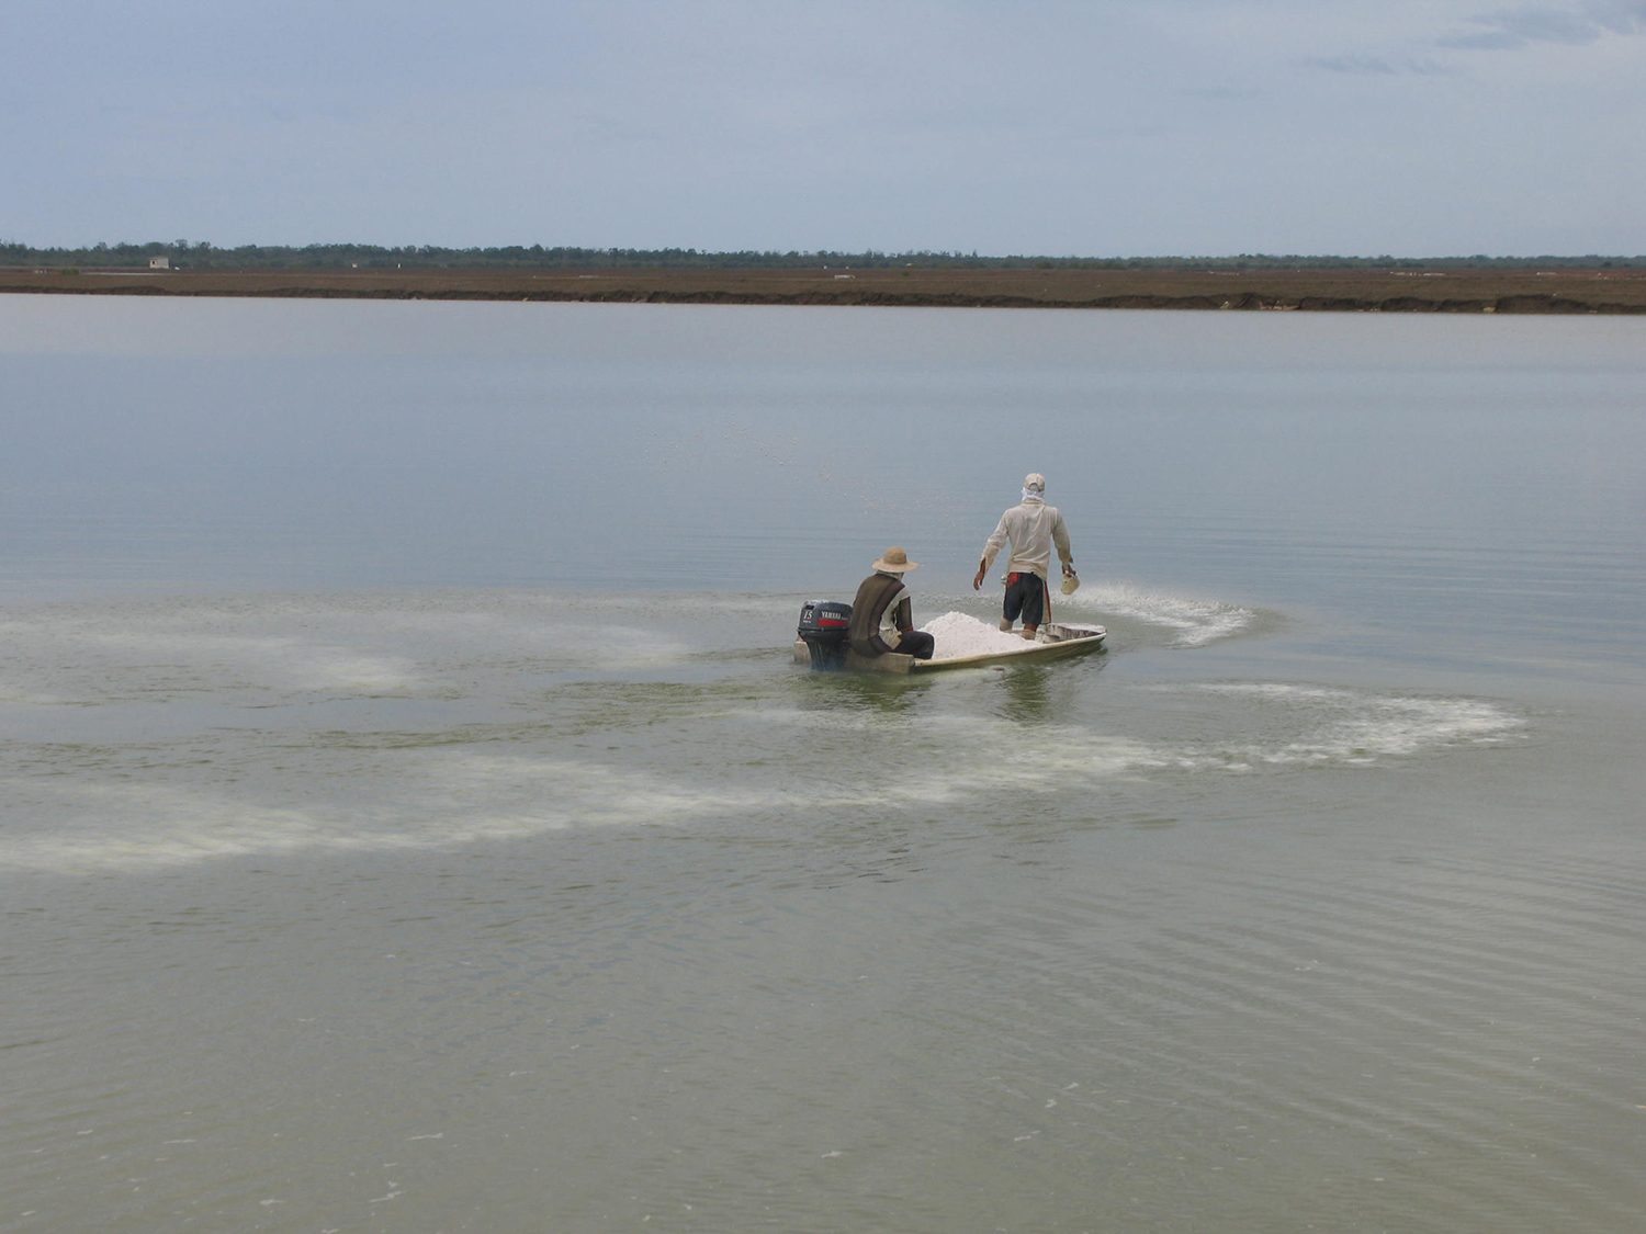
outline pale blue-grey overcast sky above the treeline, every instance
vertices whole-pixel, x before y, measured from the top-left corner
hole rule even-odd
[[[0,0],[0,240],[1646,253],[1646,0]]]

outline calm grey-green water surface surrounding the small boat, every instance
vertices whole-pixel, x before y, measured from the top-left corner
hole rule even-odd
[[[0,1231],[1639,1227],[1646,322],[0,301]],[[1025,471],[1104,655],[811,675]]]

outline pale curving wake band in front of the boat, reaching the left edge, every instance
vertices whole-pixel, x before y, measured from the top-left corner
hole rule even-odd
[[[914,724],[904,707],[927,691],[858,684],[861,696],[844,696],[849,680],[823,683],[831,701],[821,707],[739,706],[713,688],[602,684],[591,693],[604,717],[570,726],[336,731],[305,740],[221,732],[214,765],[148,747],[40,750],[41,763],[71,758],[77,773],[0,777],[0,791],[26,800],[33,816],[10,834],[0,869],[138,872],[609,826],[764,831],[818,811],[927,816],[1024,793],[1091,818],[1137,785],[1155,795],[1207,777],[1365,768],[1501,745],[1524,731],[1521,717],[1481,699],[1202,683],[1146,686],[1164,706],[1106,727],[1037,724],[1025,742],[1022,722],[999,714],[925,714]],[[667,722],[677,714],[693,722]],[[568,747],[568,735],[579,740]],[[640,747],[645,763],[630,757]],[[797,747],[808,757],[797,760]],[[895,767],[889,749],[899,750]]]

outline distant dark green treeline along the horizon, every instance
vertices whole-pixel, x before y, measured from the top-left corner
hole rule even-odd
[[[33,248],[0,242],[0,265],[35,267],[146,267],[156,257],[194,270],[395,270],[463,268],[509,270],[517,267],[672,267],[737,270],[815,270],[818,267],[922,267],[971,270],[1445,270],[1445,268],[1646,268],[1641,257],[1302,257],[1295,253],[1239,253],[1236,257],[983,257],[979,253],[907,252],[737,252],[696,248],[573,248],[505,245],[502,248],[439,248],[375,244],[257,245],[219,248],[211,242],[94,244],[87,248]]]

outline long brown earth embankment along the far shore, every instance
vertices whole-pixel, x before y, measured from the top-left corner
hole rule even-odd
[[[280,270],[0,268],[0,293],[653,304],[1643,313],[1646,270]]]

